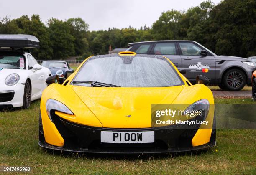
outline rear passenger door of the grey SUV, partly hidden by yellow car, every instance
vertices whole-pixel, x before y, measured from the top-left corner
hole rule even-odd
[[[172,61],[179,70],[182,69],[181,57],[175,42],[155,43],[150,53],[165,56]]]

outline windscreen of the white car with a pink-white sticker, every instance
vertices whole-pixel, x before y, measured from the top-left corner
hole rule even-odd
[[[0,68],[26,69],[26,60],[23,55],[1,55]]]

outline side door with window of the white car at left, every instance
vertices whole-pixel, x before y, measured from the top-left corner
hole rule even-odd
[[[41,93],[42,81],[44,80],[44,73],[42,70],[32,71],[33,66],[37,61],[33,56],[28,54],[28,69],[31,71],[31,96],[37,96]]]

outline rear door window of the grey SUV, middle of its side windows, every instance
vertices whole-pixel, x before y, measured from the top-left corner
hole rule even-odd
[[[176,55],[175,43],[156,43],[155,55]]]

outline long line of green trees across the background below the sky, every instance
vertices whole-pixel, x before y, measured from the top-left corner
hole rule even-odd
[[[256,1],[224,0],[214,5],[210,0],[186,11],[168,10],[152,26],[109,28],[89,31],[81,18],[44,24],[39,15],[0,19],[0,34],[31,34],[40,40],[40,49],[32,50],[37,59],[65,59],[107,54],[112,48],[152,40],[193,40],[218,55],[256,56]]]

